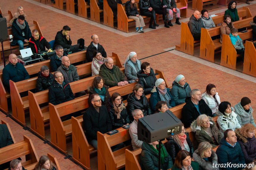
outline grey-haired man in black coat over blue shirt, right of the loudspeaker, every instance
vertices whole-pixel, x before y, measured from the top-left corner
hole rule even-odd
[[[212,117],[212,110],[204,100],[201,100],[199,89],[191,90],[190,97],[187,97],[185,102],[186,104],[182,108],[182,123],[185,128],[190,127],[190,124],[201,114]]]

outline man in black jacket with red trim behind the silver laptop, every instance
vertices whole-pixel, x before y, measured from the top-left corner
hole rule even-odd
[[[33,30],[32,37],[28,42],[28,48],[31,48],[33,54],[38,54],[40,51],[45,51],[45,47],[48,49],[48,52],[52,52],[50,43],[39,35],[38,30]]]

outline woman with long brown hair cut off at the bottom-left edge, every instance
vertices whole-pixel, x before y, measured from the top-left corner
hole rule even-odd
[[[46,155],[40,157],[34,170],[58,170],[57,166],[51,162],[50,158]]]

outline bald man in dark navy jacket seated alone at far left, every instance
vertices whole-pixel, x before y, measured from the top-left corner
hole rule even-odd
[[[15,54],[9,55],[9,64],[3,69],[3,79],[4,85],[8,87],[8,91],[10,91],[9,80],[19,82],[29,79],[27,70],[22,64],[18,63],[18,58]]]

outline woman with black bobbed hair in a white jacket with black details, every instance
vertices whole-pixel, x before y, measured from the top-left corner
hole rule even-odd
[[[231,104],[228,101],[222,101],[219,105],[219,110],[216,111],[218,116],[217,123],[220,127],[220,132],[224,136],[224,132],[227,129],[235,131],[237,128],[241,128],[236,116],[237,114],[231,108]]]

